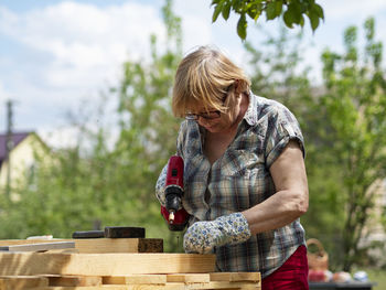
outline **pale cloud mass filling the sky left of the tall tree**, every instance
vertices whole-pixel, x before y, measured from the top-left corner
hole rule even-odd
[[[159,8],[132,1],[63,1],[23,12],[0,4],[0,41],[11,40],[0,56],[0,98],[17,100],[15,127],[63,125],[81,99],[93,101],[119,83],[125,61],[149,57],[150,34],[164,40]]]

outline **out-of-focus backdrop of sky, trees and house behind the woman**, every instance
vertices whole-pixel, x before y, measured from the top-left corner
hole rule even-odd
[[[320,0],[313,31],[282,18],[228,20],[211,1],[0,1],[0,238],[146,227],[182,251],[154,184],[175,152],[179,61],[215,45],[303,130],[310,208],[301,221],[333,271],[386,287],[386,2]]]

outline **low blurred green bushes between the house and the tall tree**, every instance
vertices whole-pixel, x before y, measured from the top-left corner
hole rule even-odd
[[[92,107],[86,105],[83,108]],[[72,127],[79,130],[74,146],[53,151],[49,160],[36,152],[35,176],[17,182],[15,198],[0,198],[2,238],[47,234],[68,238],[75,230],[138,222],[136,212],[127,211],[132,202],[126,198],[126,184],[117,182],[127,173],[108,149],[103,116],[97,112],[94,120],[93,110],[81,111],[77,116],[85,119],[73,120]],[[98,127],[89,128],[88,121]]]

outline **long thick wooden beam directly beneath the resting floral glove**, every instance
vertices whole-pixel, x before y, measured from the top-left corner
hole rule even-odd
[[[0,253],[0,275],[202,273],[215,269],[214,255]]]

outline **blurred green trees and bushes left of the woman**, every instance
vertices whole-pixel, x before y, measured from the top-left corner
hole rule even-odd
[[[164,238],[167,251],[181,250],[180,235],[168,229],[154,196],[158,175],[175,153],[179,129],[170,100],[182,35],[171,4],[167,1],[162,10],[169,32],[163,52],[152,36],[150,62],[125,63],[121,85],[112,90],[120,125],[114,148],[100,122],[106,100],[95,120],[89,117],[94,112],[76,114],[76,146],[56,152],[50,162],[42,155],[34,181],[13,189],[17,198],[0,198],[1,238],[64,238],[75,230],[130,225],[146,227],[148,237]]]

